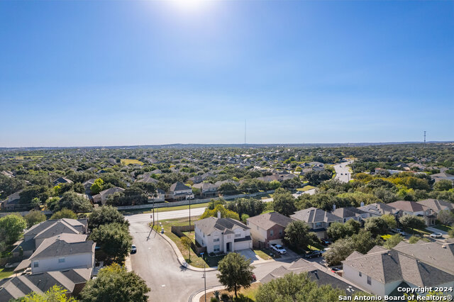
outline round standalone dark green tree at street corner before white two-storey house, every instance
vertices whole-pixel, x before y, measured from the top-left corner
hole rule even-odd
[[[228,291],[235,291],[235,296],[238,298],[238,289],[241,287],[247,289],[252,283],[253,269],[250,260],[236,252],[231,252],[218,263],[219,274],[216,276]]]

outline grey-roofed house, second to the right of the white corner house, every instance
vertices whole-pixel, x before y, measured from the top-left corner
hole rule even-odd
[[[314,207],[297,211],[293,215],[290,215],[290,218],[309,224],[311,232],[316,233],[319,238],[326,238],[326,229],[331,223],[343,222],[343,218]]]

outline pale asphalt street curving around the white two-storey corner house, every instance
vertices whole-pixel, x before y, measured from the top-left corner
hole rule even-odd
[[[189,213],[184,211],[187,210],[162,212],[159,215],[160,219],[179,218]],[[199,211],[203,212],[203,209]],[[132,268],[150,287],[149,301],[188,301],[193,293],[204,289],[202,272],[182,269],[171,245],[160,235],[153,232],[148,239],[150,214],[126,216],[126,219],[131,223],[130,232],[133,244],[137,247],[137,253],[131,255]],[[294,257],[285,257],[257,264],[254,269],[255,276],[260,280],[273,269],[281,265],[288,267],[293,261]],[[220,285],[216,273],[206,272],[207,289]]]

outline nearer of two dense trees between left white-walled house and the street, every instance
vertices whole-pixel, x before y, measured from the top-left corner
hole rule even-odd
[[[89,239],[96,242],[107,261],[119,263],[125,261],[133,242],[128,226],[120,223],[100,225],[92,230]]]

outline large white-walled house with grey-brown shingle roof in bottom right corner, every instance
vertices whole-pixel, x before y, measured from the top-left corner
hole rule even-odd
[[[342,263],[345,279],[377,296],[402,295],[397,291],[398,287],[454,286],[453,274],[411,255],[380,246],[373,247],[366,255],[353,252]]]

